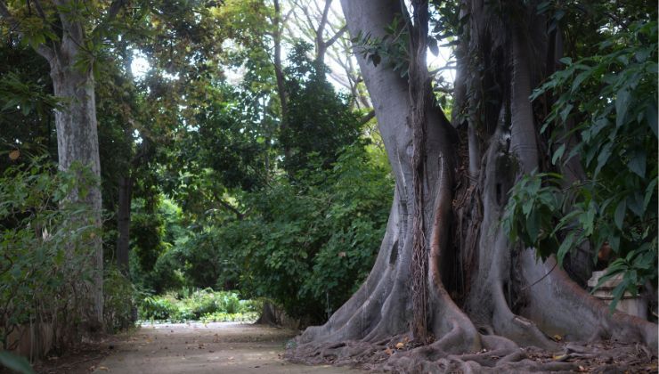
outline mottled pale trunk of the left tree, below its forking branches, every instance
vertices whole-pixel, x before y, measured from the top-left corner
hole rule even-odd
[[[61,45],[49,59],[51,77],[55,96],[61,98],[64,107],[55,111],[57,127],[57,151],[59,167],[69,170],[75,163],[88,167],[95,181],[85,186],[85,195],[73,191],[69,199],[85,203],[92,212],[94,225],[102,225],[101,198],[101,159],[99,156],[98,133],[96,123],[96,102],[94,97],[94,77],[91,69],[81,71],[74,66],[79,58],[79,44],[82,37],[81,28],[74,28],[71,36],[64,34]],[[89,242],[91,253],[90,269],[92,285],[86,290],[88,306],[85,306],[87,323],[90,329],[102,327],[103,315],[103,252],[100,233]]]

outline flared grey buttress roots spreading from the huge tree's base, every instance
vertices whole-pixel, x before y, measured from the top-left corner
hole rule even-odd
[[[517,260],[512,258],[514,251],[497,224],[501,206],[492,192],[497,183],[504,183],[507,178],[496,167],[502,165],[500,158],[506,156],[502,148],[505,141],[503,137],[500,139],[488,150],[489,161],[484,163],[480,182],[483,190],[491,193],[485,193],[482,202],[479,264],[464,305],[467,313],[444,288],[440,271],[446,257],[443,248],[446,248],[447,227],[450,227],[451,206],[446,206],[452,200],[451,189],[442,183],[451,179],[449,169],[440,160],[428,254],[428,295],[433,311],[428,327],[435,341],[427,346],[415,346],[411,336],[401,331],[401,326],[403,329],[408,326],[404,321],[411,316],[406,307],[409,292],[404,291],[409,265],[403,266],[409,264],[406,253],[411,251],[405,251],[404,240],[400,248],[401,206],[396,194],[383,248],[369,280],[344,305],[343,312],[339,310],[324,326],[307,329],[297,339],[297,346],[289,349],[289,360],[402,373],[566,372],[581,370],[580,366],[595,370],[652,366],[656,352],[647,348],[621,343],[565,345],[551,338],[553,334],[560,339],[579,341],[616,337],[652,346],[653,339],[656,341],[656,326],[620,313],[609,315],[605,305],[569,280],[565,272],[554,270],[547,275],[553,267],[551,259],[546,264],[538,263],[531,251],[522,251]],[[533,257],[525,257],[525,253]],[[515,280],[511,274],[517,269],[522,269],[522,273]],[[513,281],[521,281],[532,291],[524,293],[525,304],[516,313],[510,306],[514,302],[507,295],[507,284]],[[562,329],[557,329],[561,323]],[[626,362],[614,358],[625,354]],[[629,357],[636,362],[630,362]]]

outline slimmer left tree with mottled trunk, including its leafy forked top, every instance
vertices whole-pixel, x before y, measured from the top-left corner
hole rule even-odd
[[[39,0],[9,4],[0,1],[2,20],[50,65],[53,91],[61,101],[61,107],[55,111],[59,167],[69,170],[79,163],[91,169],[97,178],[86,191],[76,190],[69,196],[90,207],[97,227],[102,224],[102,197],[94,69],[98,68],[97,60],[110,25],[124,3],[122,0],[112,3],[53,0],[43,4]],[[93,236],[89,244],[93,274],[85,310],[90,327],[97,329],[102,324],[103,313],[101,236]]]

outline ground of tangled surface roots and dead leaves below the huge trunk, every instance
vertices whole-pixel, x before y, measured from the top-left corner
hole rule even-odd
[[[433,354],[435,352],[435,354]],[[431,356],[435,358],[430,358]],[[656,347],[606,340],[563,343],[555,352],[533,346],[483,349],[469,354],[441,354],[431,346],[418,346],[402,335],[377,344],[347,341],[297,346],[287,352],[291,362],[335,364],[375,372],[394,373],[500,373],[588,372],[598,374],[656,373]],[[395,365],[403,362],[404,368]],[[498,366],[501,364],[500,366]]]

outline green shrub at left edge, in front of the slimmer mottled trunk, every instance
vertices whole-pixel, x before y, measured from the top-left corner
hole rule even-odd
[[[36,159],[0,176],[0,338],[22,324],[58,319],[70,327],[83,316],[80,290],[91,280],[89,241],[99,235],[88,207],[67,199],[85,196],[91,173],[69,172]]]

